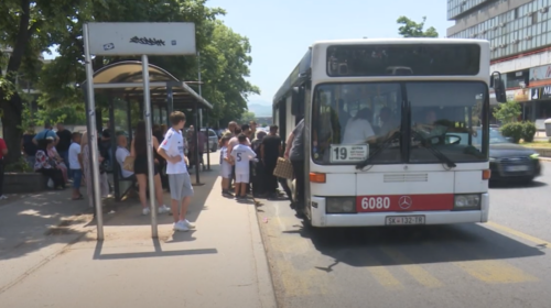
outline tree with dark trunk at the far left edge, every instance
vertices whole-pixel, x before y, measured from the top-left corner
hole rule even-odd
[[[55,32],[67,26],[76,6],[84,0],[2,0],[0,1],[0,47],[11,48],[7,63],[0,62],[0,108],[2,109],[3,136],[8,148],[7,161],[13,163],[21,156],[21,124],[23,102],[18,91],[18,79],[36,79],[39,55],[54,44]],[[6,55],[3,55],[6,57]],[[11,90],[10,90],[11,89]]]

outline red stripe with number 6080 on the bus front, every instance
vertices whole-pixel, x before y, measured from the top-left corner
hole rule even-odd
[[[356,197],[358,212],[452,210],[453,194],[377,195]]]

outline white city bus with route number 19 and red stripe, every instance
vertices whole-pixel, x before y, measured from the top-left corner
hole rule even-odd
[[[483,40],[314,43],[273,98],[284,139],[304,120],[309,224],[486,222],[489,59]]]

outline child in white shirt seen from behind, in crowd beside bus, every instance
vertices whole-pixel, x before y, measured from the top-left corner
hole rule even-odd
[[[246,189],[249,184],[249,162],[257,157],[257,154],[247,145],[247,136],[238,136],[239,144],[231,150],[231,157],[236,165],[236,199],[247,198]]]

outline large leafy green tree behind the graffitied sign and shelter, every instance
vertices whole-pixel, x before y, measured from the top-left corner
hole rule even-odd
[[[88,0],[90,1],[90,0]],[[41,98],[50,107],[83,101],[83,92],[75,87],[85,77],[82,26],[87,20],[97,22],[194,22],[196,46],[201,52],[202,95],[214,105],[209,111],[209,122],[229,117],[238,119],[247,109],[247,97],[259,94],[259,89],[248,82],[248,65],[251,63],[250,44],[231,31],[218,15],[225,14],[219,8],[205,7],[206,0],[102,0],[90,1],[87,10],[60,34],[60,57],[47,65],[41,75]],[[138,57],[96,57],[94,69]],[[150,57],[150,63],[168,69],[181,80],[196,80],[198,58],[193,56]],[[96,105],[105,108],[107,100],[96,96]]]

